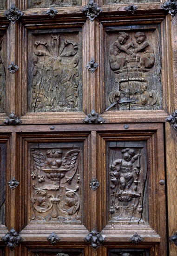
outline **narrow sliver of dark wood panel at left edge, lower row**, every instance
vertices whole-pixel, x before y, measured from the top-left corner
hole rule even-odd
[[[6,145],[0,143],[0,224],[5,225]]]

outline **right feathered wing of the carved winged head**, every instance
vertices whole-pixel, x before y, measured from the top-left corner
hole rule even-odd
[[[74,167],[80,150],[73,149],[66,153],[65,157],[62,158],[62,164],[60,168],[70,170]]]

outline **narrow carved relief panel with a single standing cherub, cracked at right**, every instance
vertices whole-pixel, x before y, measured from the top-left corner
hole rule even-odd
[[[131,148],[109,146],[111,178],[108,201],[110,222],[147,223],[147,164],[144,142],[130,143]],[[139,147],[141,146],[141,147]]]

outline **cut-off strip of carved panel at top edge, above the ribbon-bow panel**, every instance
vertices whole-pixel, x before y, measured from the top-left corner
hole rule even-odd
[[[81,6],[82,0],[28,0],[28,8]]]

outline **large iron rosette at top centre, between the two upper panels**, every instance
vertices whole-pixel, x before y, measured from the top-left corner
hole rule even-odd
[[[90,20],[94,20],[99,13],[101,13],[103,10],[98,7],[94,1],[90,1],[88,5],[86,5],[83,9],[82,12],[85,13],[86,17],[89,17]]]

